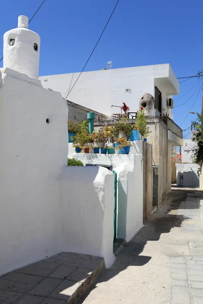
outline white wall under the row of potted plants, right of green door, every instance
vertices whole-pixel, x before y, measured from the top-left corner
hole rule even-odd
[[[73,154],[85,164],[112,165],[118,178],[118,238],[128,242],[143,226],[141,155]]]

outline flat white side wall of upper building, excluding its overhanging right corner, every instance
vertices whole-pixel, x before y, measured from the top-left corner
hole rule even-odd
[[[58,91],[66,96],[69,86],[72,87],[79,73],[49,75],[40,77],[45,88]],[[131,89],[126,93],[125,89]],[[83,72],[69,95],[69,100],[86,106],[97,112],[111,116],[120,112],[119,108],[125,102],[131,112],[139,109],[139,101],[144,93],[154,95],[154,66],[138,66]]]

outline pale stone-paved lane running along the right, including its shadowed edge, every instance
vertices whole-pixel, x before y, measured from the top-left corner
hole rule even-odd
[[[203,304],[203,194],[175,188],[78,304]]]

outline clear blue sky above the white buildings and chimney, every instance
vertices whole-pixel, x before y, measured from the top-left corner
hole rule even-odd
[[[30,18],[41,2],[7,0],[1,4],[0,57],[3,56],[4,32],[17,26],[18,15]],[[29,24],[29,28],[41,36],[40,75],[80,71],[116,2],[46,0]],[[113,68],[170,63],[177,77],[196,74],[203,68],[202,11],[202,0],[120,0],[85,70],[98,70],[112,60]],[[2,64],[3,61],[0,67]],[[191,79],[181,84],[180,96],[197,81]],[[184,103],[195,88],[175,105]],[[198,91],[185,105],[173,110],[179,125]],[[200,109],[201,90],[192,107],[193,111]],[[188,128],[194,118],[195,115],[189,114],[182,128]]]

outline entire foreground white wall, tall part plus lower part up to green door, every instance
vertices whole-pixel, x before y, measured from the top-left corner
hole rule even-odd
[[[0,144],[0,275],[65,250],[104,256],[109,267],[113,174],[67,167],[67,105],[60,93],[1,69]]]

